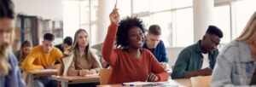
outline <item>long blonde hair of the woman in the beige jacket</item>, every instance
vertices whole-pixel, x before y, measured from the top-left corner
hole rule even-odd
[[[79,44],[78,44],[79,40],[78,40],[78,38],[79,38],[79,33],[81,33],[81,32],[85,32],[88,35],[88,33],[84,29],[79,29],[74,35],[73,44],[71,45],[71,47],[69,49],[67,49],[68,53],[73,53],[73,56],[74,56],[73,60],[75,61],[74,62],[75,65],[77,64],[77,61],[78,61],[77,59],[79,58]],[[84,49],[84,53],[85,53],[86,60],[88,60],[88,61],[94,60],[94,58],[92,57],[92,54],[90,52],[89,40],[88,40],[88,45]]]

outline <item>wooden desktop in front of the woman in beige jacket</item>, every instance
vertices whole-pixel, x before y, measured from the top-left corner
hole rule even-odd
[[[100,82],[100,76],[52,76],[52,78],[64,82]]]

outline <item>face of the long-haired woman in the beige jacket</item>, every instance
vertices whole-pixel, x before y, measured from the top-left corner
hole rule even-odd
[[[79,47],[85,48],[89,44],[88,34],[86,32],[80,32],[78,36]]]

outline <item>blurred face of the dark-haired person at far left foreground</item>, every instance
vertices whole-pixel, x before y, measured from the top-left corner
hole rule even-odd
[[[12,29],[12,19],[0,18],[0,46],[4,43],[9,43]]]

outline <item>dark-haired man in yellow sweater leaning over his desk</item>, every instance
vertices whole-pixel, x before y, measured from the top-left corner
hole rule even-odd
[[[60,61],[62,57],[61,50],[54,47],[54,40],[55,36],[53,34],[44,34],[43,44],[33,48],[22,62],[21,68],[23,71],[53,69],[55,61]],[[50,78],[43,77],[38,78],[38,80],[44,82],[44,87],[57,86],[57,83]]]

